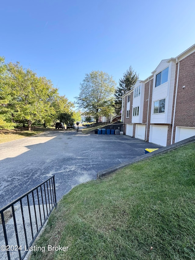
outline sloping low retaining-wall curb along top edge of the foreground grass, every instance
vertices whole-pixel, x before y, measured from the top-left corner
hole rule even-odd
[[[185,140],[182,140],[182,141],[179,141],[179,142],[177,142],[175,144],[171,144],[171,145],[159,148],[156,151],[153,151],[153,152],[141,155],[141,156],[139,156],[137,158],[134,158],[134,159],[131,159],[129,161],[120,163],[120,164],[115,165],[113,167],[110,167],[110,168],[108,168],[106,170],[100,171],[100,172],[97,173],[97,179],[100,179],[100,178],[102,178],[104,176],[107,176],[107,175],[117,171],[118,169],[120,169],[122,167],[125,167],[125,166],[128,166],[130,164],[133,164],[135,162],[140,162],[140,161],[146,160],[146,159],[151,158],[151,157],[153,157],[155,155],[163,154],[163,153],[166,153],[168,151],[172,151],[172,150],[174,150],[174,149],[176,149],[178,147],[181,147],[183,145],[191,144],[191,143],[195,143],[195,136],[189,137],[189,138],[187,138]]]

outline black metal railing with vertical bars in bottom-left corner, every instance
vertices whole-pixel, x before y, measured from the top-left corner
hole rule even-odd
[[[0,259],[24,259],[54,207],[57,202],[52,176],[1,208]]]

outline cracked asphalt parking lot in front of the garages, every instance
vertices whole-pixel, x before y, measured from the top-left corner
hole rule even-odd
[[[98,171],[160,148],[126,135],[48,131],[0,144],[0,208],[55,174],[59,201],[74,186],[96,179]]]

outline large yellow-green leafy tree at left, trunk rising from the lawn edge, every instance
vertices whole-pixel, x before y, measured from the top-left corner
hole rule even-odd
[[[37,77],[30,69],[24,69],[19,62],[7,64],[5,89],[12,98],[11,107],[15,120],[27,120],[28,130],[35,121],[43,121],[49,113],[50,101],[57,89],[45,77]]]

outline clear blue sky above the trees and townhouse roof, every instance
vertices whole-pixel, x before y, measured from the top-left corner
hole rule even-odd
[[[194,0],[7,0],[0,56],[50,79],[70,101],[85,73],[115,81],[131,65],[141,80],[195,44]]]

